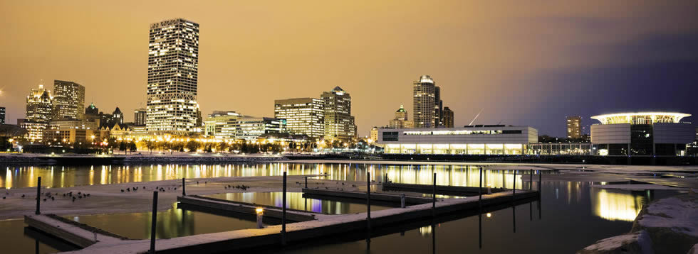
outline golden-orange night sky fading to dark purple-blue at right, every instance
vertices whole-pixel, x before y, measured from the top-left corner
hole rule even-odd
[[[409,2],[409,3],[408,3]],[[492,2],[492,3],[489,3]],[[148,26],[200,25],[199,104],[274,116],[274,99],[350,92],[359,135],[385,126],[429,74],[457,126],[565,116],[698,115],[698,1],[2,1],[0,106],[24,118],[41,79],[85,106],[145,107]],[[684,118],[698,122],[698,116]],[[586,129],[588,131],[588,128]]]

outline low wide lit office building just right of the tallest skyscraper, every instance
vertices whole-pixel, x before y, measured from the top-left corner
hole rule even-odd
[[[286,133],[286,120],[214,111],[204,121],[204,135],[215,138],[256,140],[269,133]]]

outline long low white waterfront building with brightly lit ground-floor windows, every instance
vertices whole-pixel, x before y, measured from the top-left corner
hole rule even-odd
[[[378,144],[385,153],[523,155],[538,142],[528,126],[477,125],[462,128],[381,128]]]

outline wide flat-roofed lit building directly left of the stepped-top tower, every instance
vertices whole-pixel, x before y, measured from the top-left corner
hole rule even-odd
[[[277,99],[274,118],[286,119],[286,129],[290,133],[311,138],[325,136],[325,106],[321,99]]]

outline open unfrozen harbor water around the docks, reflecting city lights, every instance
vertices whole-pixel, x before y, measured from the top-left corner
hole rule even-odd
[[[395,182],[429,184],[437,172],[438,184],[477,186],[479,171],[463,166],[377,166],[377,165],[208,165],[153,167],[73,167],[53,170],[48,167],[9,167],[1,177],[4,187],[31,187],[32,177],[50,178],[48,184],[66,187],[81,184],[108,184],[179,177],[217,177],[234,175],[291,175],[330,173],[333,180],[365,180],[367,170],[372,179],[382,180],[388,174]],[[58,172],[60,171],[60,172]],[[1,172],[1,170],[0,170]],[[511,187],[521,176],[511,172],[490,171],[486,185]],[[71,178],[72,177],[72,178]],[[525,176],[528,177],[528,176]],[[43,182],[43,179],[42,179]],[[574,253],[598,241],[630,231],[632,220],[643,204],[652,199],[668,197],[674,192],[630,192],[590,188],[591,182],[543,182],[541,201],[506,207],[481,216],[464,214],[449,221],[420,221],[400,228],[377,228],[371,237],[370,250],[365,233],[332,236],[322,241],[291,246],[270,253]],[[526,185],[527,186],[527,185]],[[534,184],[533,188],[538,188]],[[221,194],[219,198],[280,205],[281,194]],[[362,204],[348,204],[317,199],[303,199],[289,193],[288,206],[324,214],[348,214],[365,211]],[[538,209],[540,205],[540,209]],[[0,207],[1,209],[1,207]],[[386,209],[375,206],[373,210]],[[66,218],[97,226],[129,238],[150,237],[150,213],[66,216]],[[514,222],[515,221],[515,222]],[[266,222],[266,221],[265,221]],[[204,211],[173,208],[158,213],[158,238],[190,236],[200,233],[252,228],[254,222]],[[481,225],[481,226],[480,226]],[[0,221],[2,253],[53,253],[58,251],[49,241],[24,233],[22,221]],[[516,232],[514,232],[516,228]],[[481,233],[480,233],[481,232]],[[35,238],[41,238],[37,241]],[[481,248],[480,248],[481,241]],[[54,247],[56,244],[53,244]]]

